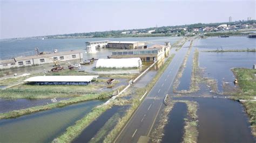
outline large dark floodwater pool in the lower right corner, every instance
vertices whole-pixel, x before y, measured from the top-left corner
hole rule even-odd
[[[198,142],[255,142],[244,108],[225,98],[173,98],[199,103]]]

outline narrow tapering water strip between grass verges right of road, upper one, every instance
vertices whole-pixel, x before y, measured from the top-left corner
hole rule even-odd
[[[183,74],[180,78],[180,84],[177,90],[189,90],[191,82],[191,73],[193,66],[193,56],[194,56],[194,47],[191,49],[190,55],[187,58],[186,67],[183,71]]]

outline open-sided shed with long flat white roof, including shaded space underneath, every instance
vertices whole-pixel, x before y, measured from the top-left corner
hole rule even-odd
[[[37,85],[87,85],[98,75],[93,76],[34,76],[24,82]]]

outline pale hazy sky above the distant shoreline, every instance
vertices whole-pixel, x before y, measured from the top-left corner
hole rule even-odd
[[[255,19],[255,1],[1,1],[0,39]]]

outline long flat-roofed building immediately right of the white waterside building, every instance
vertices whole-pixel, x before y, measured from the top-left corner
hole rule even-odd
[[[146,48],[146,42],[138,42],[138,41],[110,41],[107,42],[108,48],[116,48],[116,49],[138,49],[138,48]]]

